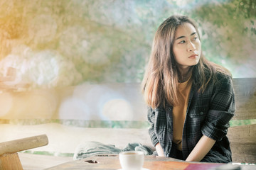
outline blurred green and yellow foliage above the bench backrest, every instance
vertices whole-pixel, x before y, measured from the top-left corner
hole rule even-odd
[[[33,86],[41,84],[28,74],[30,62],[46,50],[58,53],[50,56],[58,56],[58,75],[48,86],[142,81],[154,33],[174,14],[198,23],[209,60],[230,69],[234,77],[256,77],[253,0],[1,1],[0,12],[0,71],[15,67]],[[49,64],[35,76],[52,69]]]

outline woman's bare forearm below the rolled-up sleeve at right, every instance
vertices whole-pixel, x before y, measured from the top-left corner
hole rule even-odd
[[[208,154],[208,152],[213,147],[215,142],[216,141],[210,139],[210,137],[207,137],[207,136],[203,135],[201,137],[201,139],[198,141],[198,143],[196,144],[196,147],[194,147],[192,152],[188,155],[186,161],[188,161],[188,162],[200,162],[203,159],[203,157],[205,157],[206,154]]]

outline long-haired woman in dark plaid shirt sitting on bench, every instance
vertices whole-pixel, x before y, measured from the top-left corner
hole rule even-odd
[[[226,137],[235,112],[231,75],[203,56],[190,18],[171,16],[161,23],[142,88],[159,156],[232,162]]]

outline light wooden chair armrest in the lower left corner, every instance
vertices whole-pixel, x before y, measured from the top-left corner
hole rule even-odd
[[[48,137],[46,135],[26,137],[19,140],[0,143],[0,169],[22,170],[23,168],[17,152],[45,145],[48,145]]]

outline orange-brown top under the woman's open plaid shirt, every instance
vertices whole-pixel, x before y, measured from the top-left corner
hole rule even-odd
[[[178,84],[178,105],[173,108],[173,125],[174,125],[174,143],[177,144],[177,149],[182,150],[182,132],[188,108],[188,98],[191,91],[191,77]]]

